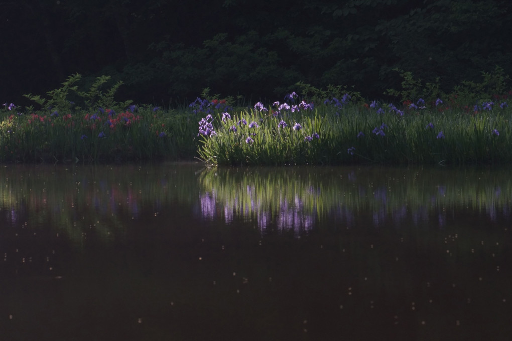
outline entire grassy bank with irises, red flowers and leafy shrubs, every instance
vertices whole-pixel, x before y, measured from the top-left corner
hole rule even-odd
[[[405,100],[395,105],[365,101],[346,88],[325,92],[297,84],[301,95],[289,94],[282,102],[233,108],[232,98],[209,97],[205,92],[188,107],[162,110],[114,101],[120,83],[106,92],[99,90],[108,77],[99,77],[89,92],[78,92],[73,84],[79,78],[70,77],[47,99],[26,95],[44,109],[18,110],[12,103],[0,108],[0,162],[512,162],[511,109],[506,102],[512,92],[477,93],[471,85],[445,95],[431,86],[423,89],[428,99],[411,100],[413,92],[406,84],[405,90],[396,92]],[[72,93],[80,106],[69,101]]]

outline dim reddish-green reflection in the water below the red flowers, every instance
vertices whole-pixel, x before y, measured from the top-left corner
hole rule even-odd
[[[0,208],[13,226],[56,226],[74,241],[84,232],[122,234],[127,222],[159,214],[171,200],[197,200],[199,166],[173,167],[8,166],[0,170]]]

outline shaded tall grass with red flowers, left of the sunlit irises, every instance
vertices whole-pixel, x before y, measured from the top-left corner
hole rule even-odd
[[[150,107],[116,113],[0,111],[1,162],[111,162],[190,158],[197,150],[196,119],[186,111]]]

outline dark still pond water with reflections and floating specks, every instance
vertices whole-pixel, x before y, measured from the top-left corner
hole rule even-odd
[[[6,340],[512,335],[510,169],[0,168]]]

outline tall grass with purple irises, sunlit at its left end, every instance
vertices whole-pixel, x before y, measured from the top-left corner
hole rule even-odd
[[[466,114],[446,107],[324,104],[294,112],[241,110],[210,121],[215,133],[202,135],[199,154],[211,165],[512,162],[506,106]]]

